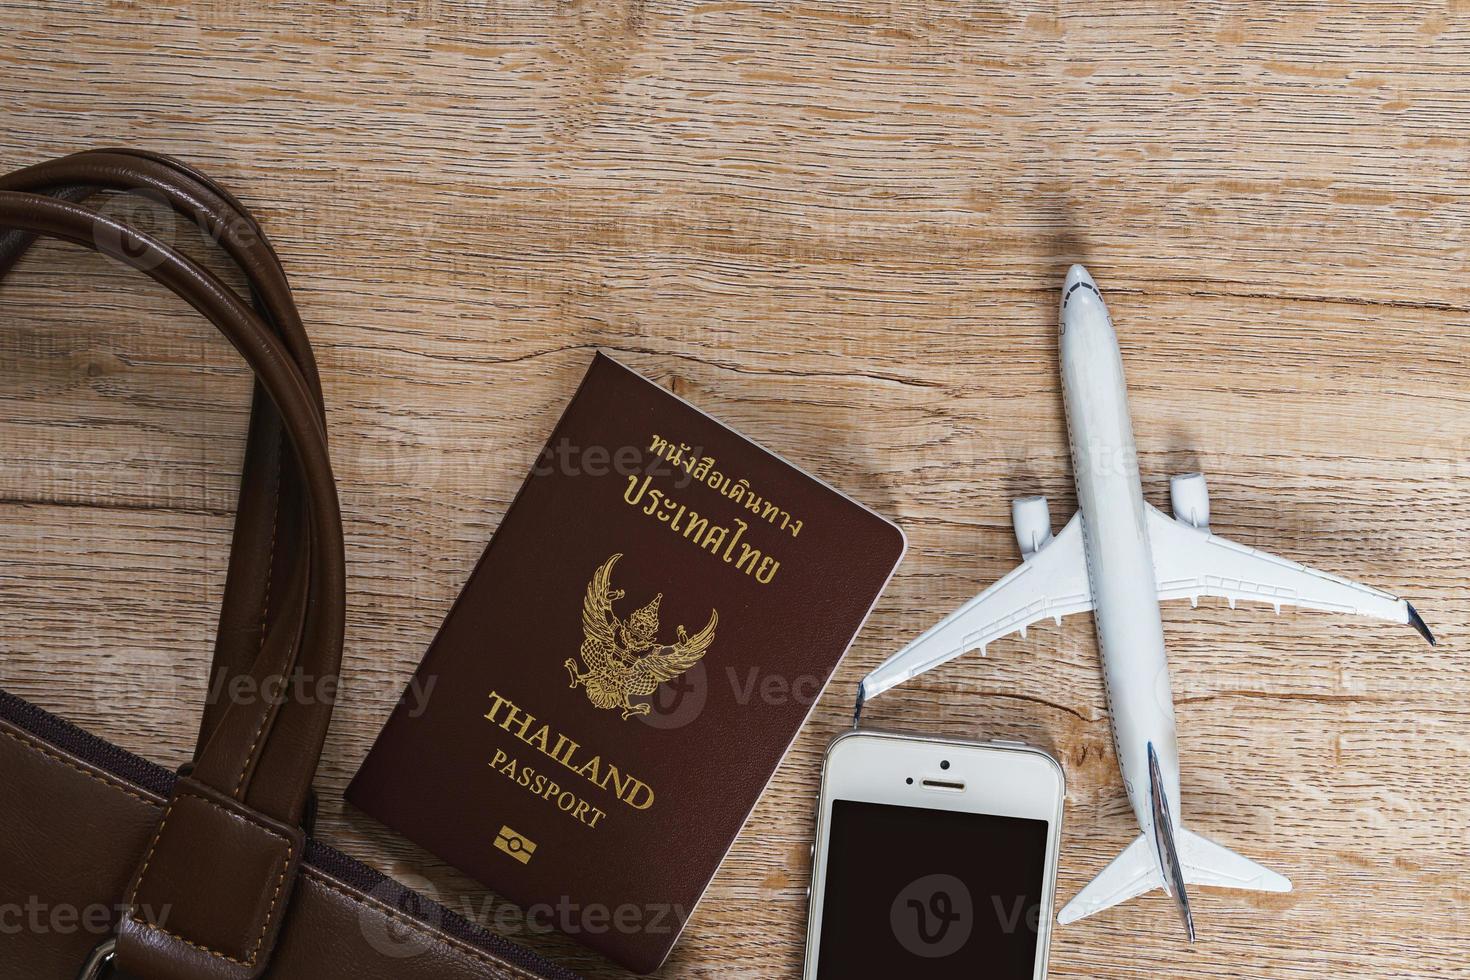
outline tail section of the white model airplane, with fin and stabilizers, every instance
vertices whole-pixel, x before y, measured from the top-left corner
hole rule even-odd
[[[1097,915],[1130,898],[1163,889],[1179,905],[1189,940],[1194,942],[1194,917],[1189,911],[1189,896],[1185,884],[1207,887],[1230,887],[1244,892],[1289,892],[1291,882],[1274,871],[1242,858],[1233,851],[1201,837],[1200,835],[1173,827],[1169,815],[1169,801],[1164,798],[1158,760],[1150,746],[1150,779],[1154,798],[1154,833],[1141,835],[1107,865],[1091,884],[1072,899],[1057,921],[1063,926]]]

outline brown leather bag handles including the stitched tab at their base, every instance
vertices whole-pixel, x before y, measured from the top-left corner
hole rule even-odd
[[[165,242],[76,203],[103,188],[156,191],[215,234],[245,272],[254,309]],[[176,162],[96,151],[29,167],[0,179],[0,228],[15,229],[0,235],[0,275],[35,235],[94,248],[188,301],[256,373],[235,535],[235,555],[245,554],[232,558],[215,661],[229,696],[206,713],[193,776],[140,855],[118,956],[135,976],[259,977],[290,907],[341,664],[341,514],[310,345],[259,225]],[[282,689],[293,676],[307,683]],[[168,909],[166,921],[154,909]]]

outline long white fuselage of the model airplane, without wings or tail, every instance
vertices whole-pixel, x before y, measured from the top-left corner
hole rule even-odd
[[[1179,743],[1123,357],[1107,306],[1091,282],[1069,284],[1061,325],[1072,469],[1113,745],[1138,826],[1151,835],[1148,746],[1158,755],[1177,827]]]

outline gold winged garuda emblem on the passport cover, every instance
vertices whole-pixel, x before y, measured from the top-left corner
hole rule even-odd
[[[622,555],[614,554],[603,563],[587,586],[582,602],[582,663],[587,670],[578,671],[572,657],[566,658],[566,670],[572,674],[573,688],[582,685],[587,689],[588,701],[598,708],[622,708],[626,721],[635,714],[653,711],[647,701],[634,704],[632,698],[647,698],[664,680],[673,680],[700,663],[714,642],[720,616],[710,610],[709,626],[694,636],[679,626],[679,639],[672,646],[656,642],[663,592],[626,620],[617,619],[613,602],[625,594],[612,586],[612,579],[619,558]]]

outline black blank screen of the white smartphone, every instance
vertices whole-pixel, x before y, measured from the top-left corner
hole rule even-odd
[[[1045,820],[832,802],[819,980],[1032,980]]]

